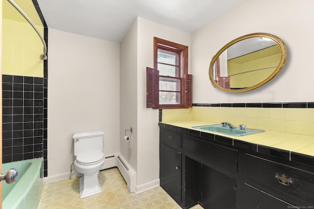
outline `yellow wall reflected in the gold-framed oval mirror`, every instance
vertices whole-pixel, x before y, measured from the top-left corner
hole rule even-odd
[[[267,56],[264,56],[267,55]],[[270,56],[268,56],[270,55]],[[256,58],[259,59],[256,59]],[[256,70],[270,66],[276,66],[281,59],[281,51],[279,46],[271,46],[266,49],[247,54],[228,61],[228,75],[233,75],[249,70]],[[276,70],[270,68],[258,70],[243,74],[230,76],[231,88],[246,88],[261,83],[269,75]]]

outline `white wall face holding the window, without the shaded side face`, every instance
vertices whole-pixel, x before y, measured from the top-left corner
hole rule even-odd
[[[190,34],[137,18],[137,186],[159,181],[158,110],[146,108],[146,67],[153,68],[153,37],[190,46]],[[189,62],[190,63],[190,62]]]

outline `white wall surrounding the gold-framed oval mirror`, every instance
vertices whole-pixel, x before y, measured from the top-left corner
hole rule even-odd
[[[313,101],[314,1],[245,0],[191,36],[193,103]],[[270,82],[247,93],[212,87],[209,63],[233,39],[255,32],[281,38],[288,49],[283,70]]]

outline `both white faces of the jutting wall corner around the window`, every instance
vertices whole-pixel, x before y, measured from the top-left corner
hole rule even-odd
[[[137,173],[136,192],[159,186],[158,110],[146,108],[146,67],[153,68],[153,38],[190,45],[190,35],[136,18],[120,46],[120,152]],[[125,129],[133,128],[129,142]]]

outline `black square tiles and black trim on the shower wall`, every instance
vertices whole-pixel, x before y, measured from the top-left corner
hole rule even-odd
[[[48,46],[48,27],[37,0],[32,0],[44,25]],[[47,164],[48,60],[44,77],[2,75],[2,163],[44,158]]]

